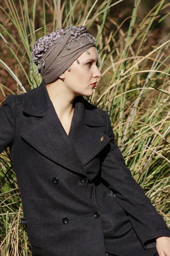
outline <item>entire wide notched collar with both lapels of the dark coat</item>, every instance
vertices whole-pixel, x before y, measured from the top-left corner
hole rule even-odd
[[[39,87],[24,94],[23,112],[41,117],[39,121],[21,130],[23,139],[48,159],[87,177],[84,166],[109,141],[107,135],[95,130],[96,127],[105,126],[96,107],[82,96],[77,96],[67,135],[42,81]],[[104,140],[101,140],[102,137]]]

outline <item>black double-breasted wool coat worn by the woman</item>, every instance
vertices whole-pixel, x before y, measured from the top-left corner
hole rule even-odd
[[[106,111],[74,100],[67,135],[45,83],[0,108],[33,256],[153,256],[170,236],[125,166]],[[23,221],[24,222],[24,221]]]

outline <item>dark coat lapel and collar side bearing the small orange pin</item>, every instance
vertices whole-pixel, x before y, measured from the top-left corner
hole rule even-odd
[[[87,108],[90,104],[85,103],[85,101],[84,104],[76,103],[74,122],[70,131],[71,143],[83,166],[89,163],[109,141],[108,136],[99,131],[98,127],[105,124],[97,113],[96,107],[91,105],[90,110]]]

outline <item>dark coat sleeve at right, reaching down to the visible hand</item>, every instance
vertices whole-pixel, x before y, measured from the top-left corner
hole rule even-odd
[[[117,203],[127,212],[144,249],[155,247],[155,239],[159,236],[170,237],[170,230],[126,167],[124,157],[114,142],[111,120],[106,111],[105,117],[105,134],[109,137],[109,143],[102,152],[101,177],[115,192]]]

